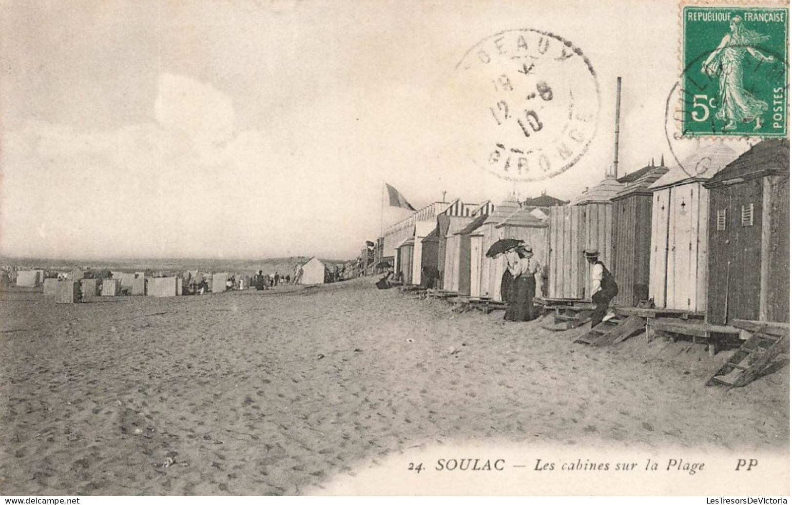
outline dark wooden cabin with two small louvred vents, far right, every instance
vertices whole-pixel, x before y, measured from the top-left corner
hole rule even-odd
[[[704,183],[710,323],[789,322],[789,169],[789,141],[764,140]]]

